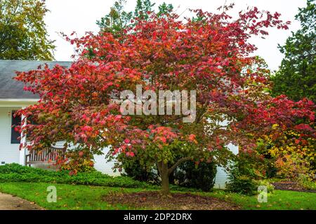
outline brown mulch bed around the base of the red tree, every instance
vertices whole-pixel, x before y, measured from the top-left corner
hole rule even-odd
[[[171,197],[159,192],[110,193],[103,200],[112,205],[126,204],[136,209],[171,209],[171,210],[237,210],[237,205],[214,197],[174,193]]]

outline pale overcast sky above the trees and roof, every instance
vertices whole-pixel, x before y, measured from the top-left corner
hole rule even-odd
[[[58,32],[70,34],[77,31],[77,34],[83,35],[85,31],[98,31],[96,20],[100,20],[109,13],[110,7],[115,0],[46,0],[46,6],[51,12],[47,13],[45,22],[48,34],[52,40],[55,40],[56,50],[55,59],[58,61],[69,61],[74,49],[70,43],[67,43],[60,37]],[[209,12],[216,12],[216,8],[225,3],[225,0],[164,0],[166,3],[172,3],[176,13],[190,15],[188,8],[202,8]],[[164,2],[163,0],[152,1],[156,6]],[[282,20],[289,20],[292,24],[289,30],[270,29],[270,35],[265,38],[254,38],[252,43],[258,47],[256,55],[265,59],[270,69],[275,70],[279,66],[283,55],[277,49],[277,44],[283,45],[291,31],[300,28],[299,22],[294,20],[298,13],[298,7],[305,7],[305,0],[227,0],[227,3],[235,2],[234,15],[247,6],[257,6],[259,10],[270,10],[270,12],[279,12],[282,14]],[[136,0],[127,0],[126,10],[133,10]]]

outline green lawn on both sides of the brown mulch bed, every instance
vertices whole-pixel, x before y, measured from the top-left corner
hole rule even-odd
[[[57,188],[56,203],[46,201],[46,188]],[[114,191],[138,192],[142,188],[110,188],[98,186],[78,186],[58,183],[0,183],[0,191],[36,202],[45,209],[133,209],[125,205],[112,206],[102,200],[103,195]],[[268,195],[267,203],[258,203],[256,196],[242,196],[215,190],[212,193],[196,193],[235,202],[242,209],[316,209],[316,193],[275,190]],[[145,208],[144,208],[145,209]]]

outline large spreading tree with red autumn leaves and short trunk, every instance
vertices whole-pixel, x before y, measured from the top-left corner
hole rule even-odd
[[[287,29],[288,22],[258,8],[240,12],[237,20],[226,10],[194,12],[195,18],[185,20],[150,13],[115,38],[105,31],[70,36],[79,53],[70,68],[18,73],[25,89],[41,97],[19,111],[37,122],[22,127],[30,133],[29,150],[63,140],[66,148],[76,146],[68,147],[72,153],[84,156],[108,146],[110,159],[137,155],[144,167],[156,165],[162,191],[169,193],[169,175],[181,162],[225,165],[232,155],[230,143],[251,151],[263,134],[277,139],[284,130],[296,130],[315,137],[310,127],[314,104],[270,97],[269,71],[252,56],[251,36],[267,35],[267,27]],[[194,122],[183,123],[184,115],[175,114],[122,116],[112,99],[123,90],[136,92],[136,85],[154,92],[196,90]],[[296,125],[294,118],[305,123]]]

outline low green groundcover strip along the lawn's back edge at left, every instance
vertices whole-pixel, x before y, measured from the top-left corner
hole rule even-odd
[[[81,172],[70,175],[67,171],[50,171],[18,164],[0,166],[0,182],[43,182],[67,183],[89,186],[108,186],[122,188],[150,188],[147,183],[133,180],[127,176],[112,177],[101,172]]]

